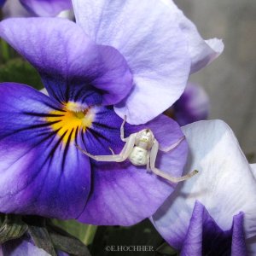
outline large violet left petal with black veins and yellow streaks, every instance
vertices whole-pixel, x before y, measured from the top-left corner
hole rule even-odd
[[[0,94],[0,212],[76,218],[90,192],[90,163],[75,131],[53,129],[65,111],[26,85],[1,84]]]

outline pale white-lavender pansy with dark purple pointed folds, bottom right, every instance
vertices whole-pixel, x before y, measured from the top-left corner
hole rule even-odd
[[[256,235],[252,166],[223,121],[196,122],[183,132],[190,149],[187,168],[200,172],[153,215],[156,229],[181,255],[247,255]]]

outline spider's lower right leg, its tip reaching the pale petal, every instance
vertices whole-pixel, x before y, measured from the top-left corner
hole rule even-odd
[[[163,178],[165,178],[166,180],[168,180],[168,181],[170,181],[172,183],[178,183],[178,182],[186,180],[189,177],[192,177],[196,173],[198,173],[198,171],[195,170],[195,171],[190,172],[189,174],[184,175],[182,177],[172,177],[171,175],[167,174],[166,172],[160,171],[158,168],[156,168],[154,166],[155,165],[156,156],[157,156],[157,153],[158,153],[158,149],[159,149],[159,143],[156,140],[154,140],[153,147],[151,148],[151,152],[150,152],[150,169],[151,169],[152,172],[154,172],[154,174],[156,174],[156,175],[158,175],[160,177],[163,177]]]

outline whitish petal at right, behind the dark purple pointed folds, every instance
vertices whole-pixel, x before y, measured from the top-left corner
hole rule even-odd
[[[187,172],[199,170],[153,216],[160,234],[181,247],[195,201],[200,201],[222,230],[244,212],[246,237],[256,234],[256,183],[236,137],[223,121],[200,121],[183,127],[190,155]]]

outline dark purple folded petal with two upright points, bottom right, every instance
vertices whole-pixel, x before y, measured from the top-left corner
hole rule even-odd
[[[234,216],[230,230],[221,230],[207,209],[199,201],[195,202],[187,234],[179,241],[181,255],[232,255],[246,256],[243,233],[243,214]]]

